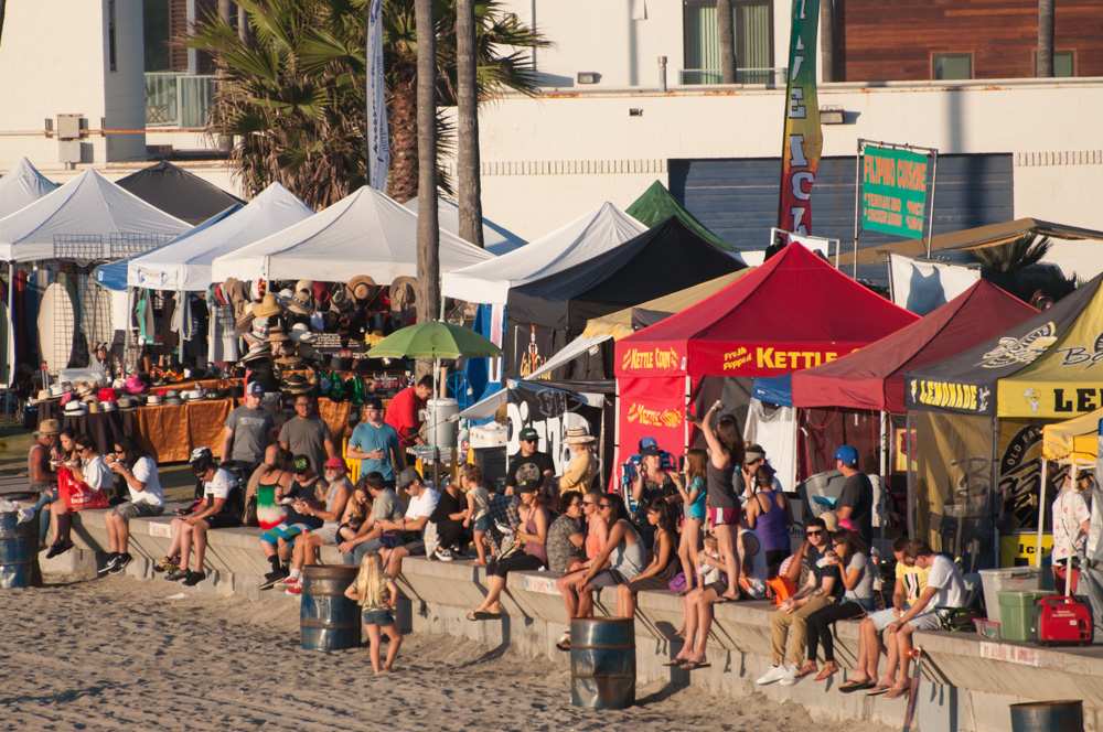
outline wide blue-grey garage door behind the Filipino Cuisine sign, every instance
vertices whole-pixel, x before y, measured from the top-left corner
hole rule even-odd
[[[672,160],[671,193],[725,241],[762,249],[778,225],[777,158]],[[812,233],[854,240],[854,158],[824,158],[812,190]],[[934,233],[1014,218],[1010,154],[939,155]],[[861,244],[899,240],[863,234]]]

